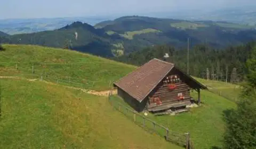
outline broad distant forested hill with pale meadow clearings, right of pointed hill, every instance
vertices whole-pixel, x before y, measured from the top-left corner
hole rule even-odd
[[[255,26],[213,21],[185,21],[146,16],[124,16],[94,26],[128,39],[123,43],[125,53],[145,46],[169,44],[186,47],[207,43],[214,48],[241,45],[256,39]]]

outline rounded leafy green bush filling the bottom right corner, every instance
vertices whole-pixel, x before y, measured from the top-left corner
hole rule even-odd
[[[256,91],[238,102],[236,110],[226,116],[227,130],[224,136],[226,149],[256,148]]]

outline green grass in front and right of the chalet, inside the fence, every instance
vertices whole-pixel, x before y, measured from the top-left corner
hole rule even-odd
[[[196,78],[199,82],[214,87],[221,87],[219,90],[233,90],[235,85],[218,81],[207,81]],[[211,89],[210,89],[211,90]],[[239,89],[236,90],[236,92]],[[234,97],[237,93],[228,92],[229,97]],[[197,92],[191,92],[191,95],[197,99]],[[195,148],[214,148],[222,147],[222,135],[225,132],[225,122],[223,115],[225,111],[235,108],[236,104],[226,98],[209,91],[201,92],[202,106],[191,109],[189,113],[181,113],[176,116],[158,116],[149,115],[150,119],[154,119],[159,124],[170,128],[174,132],[190,132],[194,141]],[[124,103],[121,101],[121,103]],[[126,106],[128,106],[126,104]]]

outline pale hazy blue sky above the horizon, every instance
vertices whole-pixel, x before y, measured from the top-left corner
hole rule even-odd
[[[0,19],[140,15],[256,5],[255,0],[0,0]]]

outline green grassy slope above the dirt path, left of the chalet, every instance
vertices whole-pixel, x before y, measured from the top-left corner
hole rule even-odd
[[[21,73],[49,75],[84,83],[86,88],[106,90],[109,81],[117,80],[131,72],[135,66],[114,62],[81,52],[27,45],[3,45],[1,51],[0,75]],[[18,70],[15,70],[15,64]]]

